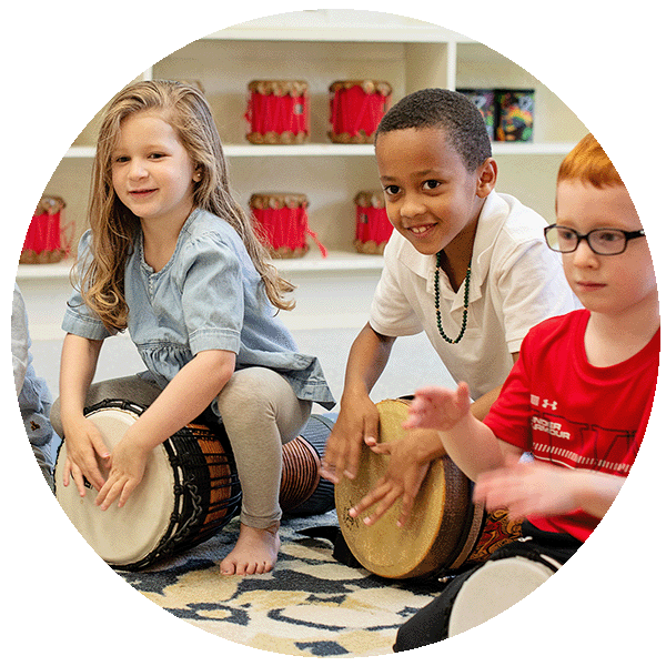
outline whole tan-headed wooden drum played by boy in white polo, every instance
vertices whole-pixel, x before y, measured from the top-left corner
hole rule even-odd
[[[380,441],[404,436],[402,423],[407,417],[408,403],[382,401],[377,410]],[[335,485],[335,508],[343,538],[369,572],[386,578],[455,573],[487,559],[497,548],[522,536],[521,521],[509,521],[505,511],[488,514],[472,502],[472,482],[448,456],[431,464],[403,527],[396,526],[398,502],[374,525],[365,525],[360,517],[352,518],[349,509],[374,487],[387,464],[387,456],[363,446],[356,478],[343,478]]]

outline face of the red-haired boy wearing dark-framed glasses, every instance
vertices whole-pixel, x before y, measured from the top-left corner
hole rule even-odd
[[[643,228],[624,185],[595,188],[581,180],[558,183],[557,224],[581,234],[594,229]],[[639,316],[644,307],[654,309],[657,282],[645,238],[628,241],[626,250],[613,256],[595,254],[581,241],[562,258],[569,286],[592,312]]]

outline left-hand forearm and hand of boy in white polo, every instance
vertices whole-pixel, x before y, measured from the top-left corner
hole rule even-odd
[[[395,337],[380,335],[366,324],[352,344],[347,360],[340,415],[326,443],[322,476],[337,483],[354,478],[361,446],[377,441],[379,413],[370,392],[382,374]]]

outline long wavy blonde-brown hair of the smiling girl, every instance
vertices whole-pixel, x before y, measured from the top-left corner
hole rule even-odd
[[[122,331],[127,327],[124,270],[140,222],[115,194],[111,180],[111,153],[121,122],[132,113],[149,109],[164,114],[164,120],[174,129],[192,163],[201,172],[201,180],[193,183],[194,206],[231,224],[262,279],[269,301],[279,310],[293,309],[293,300],[286,300],[284,294],[292,292],[294,286],[281,278],[270,263],[269,252],[258,239],[252,220],[230,191],[222,141],[209,103],[196,88],[176,81],[131,83],[109,103],[92,169],[89,203],[92,261],[80,275],[85,304],[99,315],[107,329]]]

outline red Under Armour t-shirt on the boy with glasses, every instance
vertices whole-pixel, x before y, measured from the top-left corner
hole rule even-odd
[[[576,310],[532,329],[485,423],[538,461],[627,476],[656,389],[659,331],[630,359],[595,367],[584,346],[588,320]],[[599,523],[582,511],[529,522],[579,541]]]

